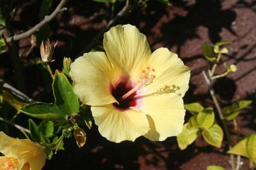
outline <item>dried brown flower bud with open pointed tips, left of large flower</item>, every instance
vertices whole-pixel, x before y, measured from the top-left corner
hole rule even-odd
[[[57,42],[55,44],[50,44],[50,41],[48,39],[46,41],[46,45],[44,45],[44,41],[42,41],[41,47],[40,47],[42,62],[49,63],[54,61],[52,60],[52,54],[54,52],[55,46],[57,45]]]

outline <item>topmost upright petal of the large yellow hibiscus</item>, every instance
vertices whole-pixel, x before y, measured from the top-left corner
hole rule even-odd
[[[151,56],[144,34],[135,26],[118,25],[104,34],[104,49],[115,69],[115,79],[127,76],[138,80],[139,74]]]

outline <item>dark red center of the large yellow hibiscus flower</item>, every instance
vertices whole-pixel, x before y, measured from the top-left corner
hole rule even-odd
[[[129,81],[129,78],[121,78],[120,81],[115,85],[115,87],[112,87],[111,93],[114,96],[114,98],[119,102],[119,105],[117,103],[113,103],[114,107],[124,111],[128,110],[130,107],[137,106],[136,99],[134,96],[137,94],[135,91],[132,93],[129,97],[127,97],[124,100],[120,100],[120,98],[127,92],[133,89],[132,83]]]

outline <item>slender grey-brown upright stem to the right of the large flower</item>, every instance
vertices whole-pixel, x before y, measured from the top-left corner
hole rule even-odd
[[[210,95],[211,95],[211,98],[212,100],[214,101],[214,104],[218,110],[218,113],[219,113],[219,116],[221,118],[221,122],[222,122],[222,125],[224,127],[224,132],[226,134],[226,137],[227,137],[227,142],[228,142],[228,148],[231,149],[231,145],[232,145],[232,141],[231,141],[231,137],[230,137],[230,134],[229,134],[229,131],[228,131],[228,127],[227,127],[227,122],[226,122],[226,119],[221,111],[221,108],[220,108],[220,105],[218,103],[218,100],[216,98],[216,95],[215,95],[215,91],[214,91],[214,88],[212,88],[212,85],[211,85],[211,76],[210,78],[208,78],[205,74],[205,71],[202,72],[203,76],[204,76],[204,79],[209,87],[209,91],[210,91]],[[230,161],[231,161],[231,168],[234,169],[234,155],[230,155]]]

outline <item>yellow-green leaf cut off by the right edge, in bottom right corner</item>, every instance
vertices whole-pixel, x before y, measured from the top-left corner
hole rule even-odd
[[[256,163],[256,134],[248,138],[246,146],[250,161]]]

